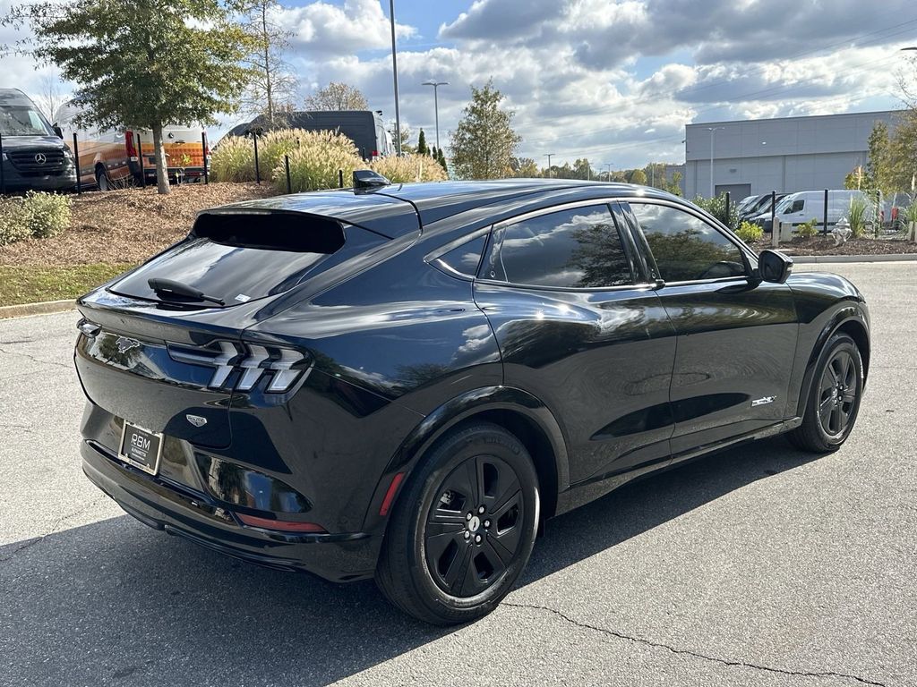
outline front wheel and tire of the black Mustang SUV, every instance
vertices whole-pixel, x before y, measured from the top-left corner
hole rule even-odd
[[[801,451],[839,449],[856,423],[863,396],[863,359],[847,334],[834,334],[824,346],[812,376],[802,424],[787,434]]]

